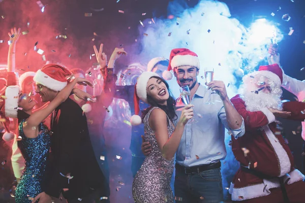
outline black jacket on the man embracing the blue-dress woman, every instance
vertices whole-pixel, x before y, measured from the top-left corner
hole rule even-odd
[[[90,142],[86,116],[75,101],[68,98],[55,109],[51,131],[49,184],[45,192],[58,198],[63,191],[66,199],[75,199],[101,188],[105,178]],[[68,183],[64,176],[69,173],[73,178]]]

